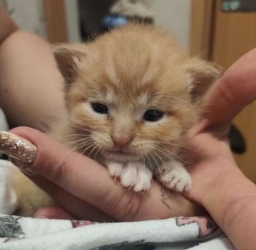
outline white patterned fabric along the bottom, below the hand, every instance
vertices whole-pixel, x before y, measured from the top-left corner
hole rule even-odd
[[[0,249],[234,250],[209,217],[93,223],[0,216]]]

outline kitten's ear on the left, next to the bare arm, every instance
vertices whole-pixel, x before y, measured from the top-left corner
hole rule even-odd
[[[78,74],[78,65],[86,56],[85,45],[57,44],[52,46],[52,52],[58,69],[66,81],[66,88]]]

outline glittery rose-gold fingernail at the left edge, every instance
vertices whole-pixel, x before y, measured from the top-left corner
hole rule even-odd
[[[37,147],[14,133],[0,132],[0,151],[18,161],[30,164],[34,161]]]

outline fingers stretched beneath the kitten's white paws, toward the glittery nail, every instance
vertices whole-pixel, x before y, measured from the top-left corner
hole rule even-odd
[[[37,130],[23,127],[11,132],[36,145],[34,160],[26,164],[26,168],[29,167],[30,172],[38,177],[29,177],[62,200],[64,207],[69,206],[68,210],[74,216],[85,204],[116,220],[149,220],[195,214],[193,204],[177,193],[166,192],[154,181],[150,191],[140,195],[114,181],[102,165],[70,152]]]

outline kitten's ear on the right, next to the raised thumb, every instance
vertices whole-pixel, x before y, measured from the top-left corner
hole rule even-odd
[[[220,68],[199,58],[186,62],[186,72],[190,77],[190,93],[193,101],[200,101],[219,76]]]

